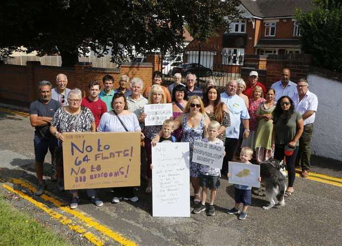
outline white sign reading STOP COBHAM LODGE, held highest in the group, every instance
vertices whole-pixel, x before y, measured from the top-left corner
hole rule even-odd
[[[146,104],[144,106],[145,125],[162,125],[172,116],[172,103]]]

